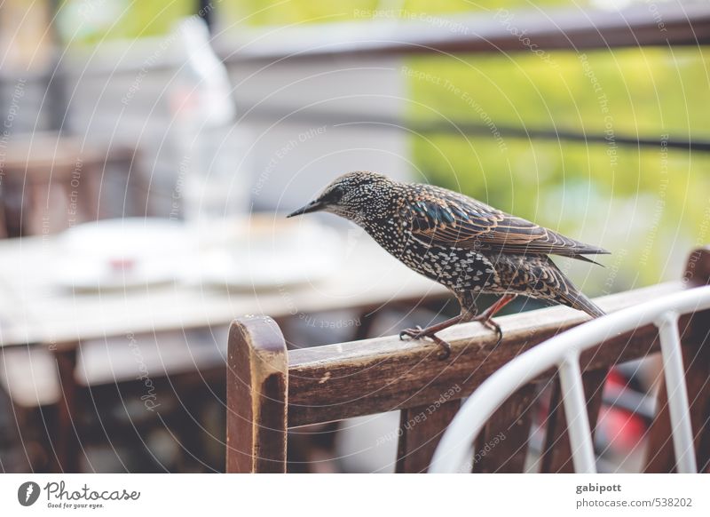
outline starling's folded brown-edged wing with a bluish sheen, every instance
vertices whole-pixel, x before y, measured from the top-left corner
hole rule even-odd
[[[414,238],[422,243],[505,253],[554,253],[569,257],[608,253],[465,195],[444,188],[422,187],[420,191],[414,191],[401,209],[401,215],[409,222]]]

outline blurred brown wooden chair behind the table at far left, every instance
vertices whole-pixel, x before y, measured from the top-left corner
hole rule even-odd
[[[147,187],[136,163],[137,152],[127,147],[54,132],[13,136],[4,156],[0,237],[47,235],[126,210],[145,215]]]

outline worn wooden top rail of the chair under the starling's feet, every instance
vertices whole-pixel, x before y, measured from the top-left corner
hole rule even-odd
[[[597,303],[607,311],[635,306],[643,300],[682,290],[668,282],[627,291]],[[288,352],[288,424],[305,426],[375,412],[413,408],[437,400],[442,391],[460,386],[466,397],[495,370],[525,352],[584,322],[587,316],[564,307],[499,318],[503,341],[477,323],[442,333],[452,345],[447,362],[436,361],[436,346],[426,340],[375,338]],[[627,361],[658,350],[658,332],[649,324],[629,336],[609,336],[599,349],[582,354],[582,370]],[[546,372],[540,371],[543,376]],[[357,382],[353,382],[357,379]]]

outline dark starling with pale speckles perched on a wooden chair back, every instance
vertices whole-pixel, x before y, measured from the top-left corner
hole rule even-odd
[[[350,172],[288,217],[313,211],[334,213],[358,224],[406,266],[454,293],[461,314],[426,329],[406,329],[399,334],[400,338],[430,338],[441,348],[442,359],[448,357],[451,347],[436,333],[459,322],[481,322],[497,332],[500,342],[501,327],[491,318],[517,295],[570,306],[592,317],[604,315],[548,255],[595,263],[584,255],[609,251],[466,195],[432,185],[400,183],[373,172]],[[477,314],[479,293],[501,298]]]

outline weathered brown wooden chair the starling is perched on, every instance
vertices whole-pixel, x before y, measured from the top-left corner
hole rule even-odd
[[[705,285],[710,280],[710,248],[690,255],[682,282],[669,282],[599,298],[607,311],[652,297]],[[425,472],[441,433],[459,409],[461,398],[517,354],[585,320],[564,307],[548,307],[499,319],[503,341],[476,323],[446,334],[452,354],[436,358],[427,341],[396,337],[287,350],[280,329],[270,318],[246,316],[233,322],[227,369],[227,472],[282,473],[287,468],[288,429],[311,424],[401,410],[396,471]],[[708,314],[682,320],[682,344],[698,468],[710,463],[710,345]],[[583,354],[585,393],[591,426],[602,402],[609,369],[659,350],[653,326],[633,335],[611,338]],[[553,372],[521,388],[488,422],[475,449],[485,449],[504,432],[505,440],[490,448],[473,472],[524,472],[540,384],[551,384],[547,425],[540,448],[541,472],[572,472],[559,384]],[[672,472],[675,458],[669,433],[665,390],[659,390],[652,421],[645,472]],[[393,458],[394,460],[394,458]]]

